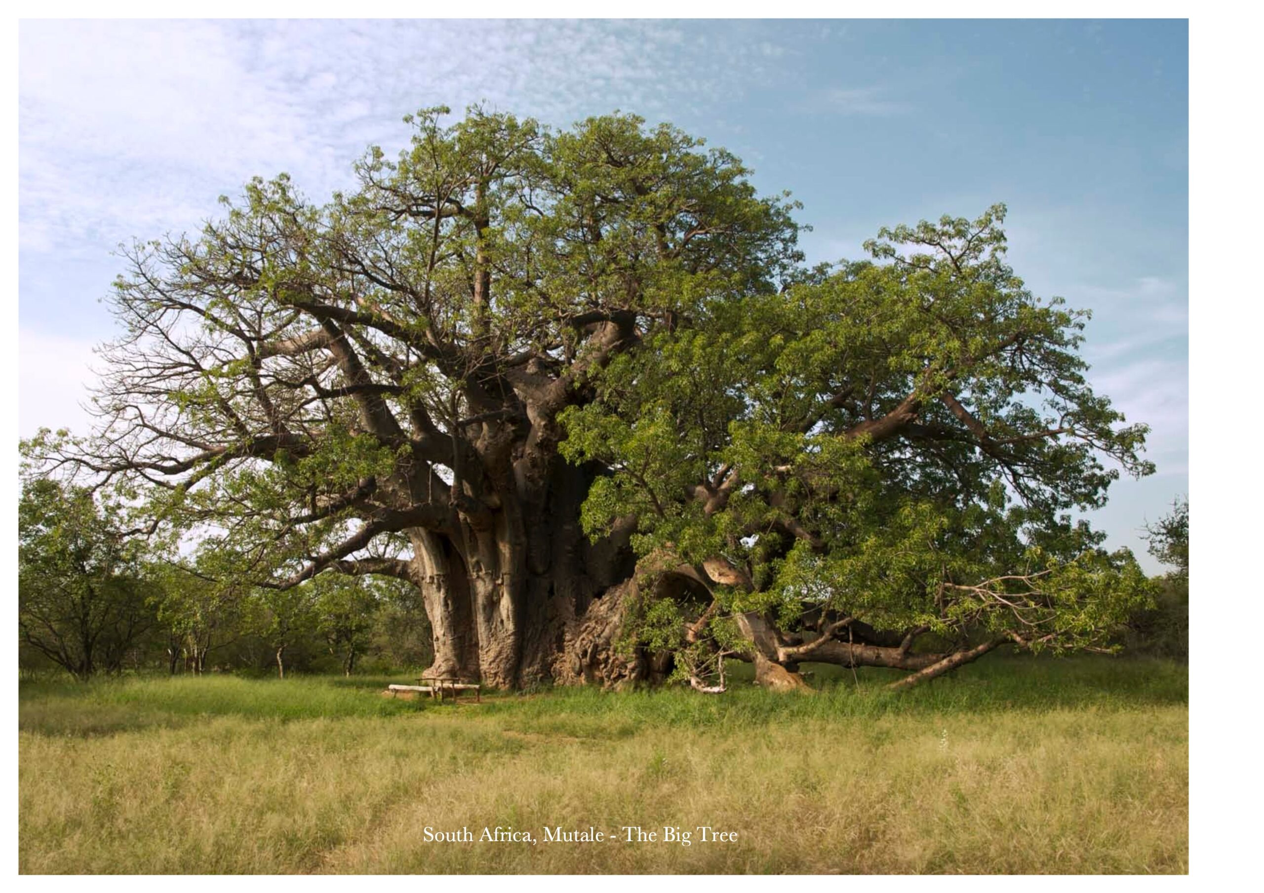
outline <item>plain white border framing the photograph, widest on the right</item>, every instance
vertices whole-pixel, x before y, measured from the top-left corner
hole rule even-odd
[[[351,5],[327,3],[276,3],[228,0],[211,5],[185,5],[178,10],[169,3],[116,3],[104,9],[91,3],[19,3],[18,13],[27,18],[162,18],[173,11],[204,18],[293,16],[293,18],[415,18],[418,14],[453,9],[449,4],[389,3],[365,0]],[[1255,246],[1254,224],[1260,206],[1259,140],[1259,13],[1245,11],[1245,4],[1217,3],[957,3],[951,8],[927,1],[872,4],[780,3],[760,6],[742,3],[664,3],[645,0],[635,6],[594,5],[580,3],[504,3],[488,0],[479,4],[477,14],[461,18],[581,18],[585,13],[602,11],[621,18],[779,18],[839,16],[851,18],[1191,18],[1191,471],[1194,513],[1193,571],[1193,634],[1191,644],[1191,873],[1200,884],[1245,880],[1259,874],[1254,863],[1260,824],[1255,818],[1259,802],[1260,733],[1254,722],[1258,712],[1259,685],[1254,650],[1260,638],[1255,630],[1254,602],[1256,594],[1256,561],[1259,553],[1258,524],[1260,488],[1256,470],[1255,433],[1259,411],[1255,408],[1258,373],[1258,341],[1261,288],[1251,263]],[[466,10],[461,10],[466,11]],[[880,13],[881,15],[875,15]],[[455,16],[454,16],[455,18]],[[8,45],[10,62],[4,67],[10,101],[16,96],[16,21],[3,45]],[[11,107],[11,106],[10,106]],[[8,152],[15,153],[16,115],[10,112]],[[16,164],[10,158],[10,172]],[[4,424],[9,443],[16,441],[16,178],[8,179],[9,208],[5,217],[4,244],[10,256],[11,289],[9,294],[6,332],[9,349],[4,351],[10,384]],[[11,448],[11,447],[10,447]],[[9,505],[16,496],[14,477],[5,479]],[[11,508],[10,508],[11,510]],[[15,522],[8,515],[10,543]],[[8,553],[9,591],[15,578],[14,553]],[[9,602],[13,604],[11,601]],[[11,619],[10,619],[11,623]],[[6,645],[8,647],[8,645]],[[10,652],[13,653],[13,652]],[[10,667],[13,663],[10,663]],[[8,692],[9,716],[16,722],[16,692]],[[10,726],[11,729],[13,726]],[[10,735],[10,767],[16,767],[16,741]],[[13,788],[8,815],[10,831],[9,865],[16,874],[16,778],[10,769]],[[699,883],[686,878],[533,878],[513,882],[503,878],[459,875],[449,879],[374,878],[367,880],[375,889],[407,889],[410,893],[436,883],[460,884],[463,890],[502,890],[506,883],[516,889],[581,889],[594,883],[608,890],[643,890]],[[1077,878],[1077,885],[1111,889],[1158,884],[1182,887],[1189,878]],[[77,878],[20,878],[23,885],[51,889],[80,889]],[[182,890],[212,889],[225,882],[220,878],[99,878],[94,884],[125,883],[129,889],[169,888],[178,883]],[[344,878],[234,878],[234,887],[243,889],[287,888],[301,883],[305,889],[345,889]],[[727,889],[755,889],[770,882],[757,878],[727,877]],[[777,882],[772,882],[777,883]],[[828,882],[827,882],[828,883]],[[1012,884],[1007,877],[995,878],[920,878],[895,877],[870,880],[843,879],[847,883],[880,883],[900,890],[933,883],[937,889],[961,889]],[[1030,878],[1024,883],[1049,888],[1064,883],[1058,878]]]

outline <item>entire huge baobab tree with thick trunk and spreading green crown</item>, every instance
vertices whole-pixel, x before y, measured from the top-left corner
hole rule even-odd
[[[502,687],[708,649],[934,673],[1097,647],[1143,597],[1059,513],[1105,498],[1098,457],[1145,472],[1144,428],[1000,210],[809,270],[787,196],[674,128],[445,114],[327,203],[255,179],[130,249],[100,428],[59,458],[250,585],[410,581],[428,672]]]

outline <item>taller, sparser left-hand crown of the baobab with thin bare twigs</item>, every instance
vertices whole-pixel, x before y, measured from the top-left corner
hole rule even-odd
[[[254,178],[201,234],[134,245],[115,283],[126,332],[99,398],[107,431],[35,452],[144,490],[161,532],[202,529],[243,586],[291,578],[398,503],[392,482],[435,501],[447,479],[428,471],[463,461],[445,432],[512,394],[512,373],[583,389],[585,320],[667,327],[798,275],[798,205],[758,196],[731,153],[635,115],[554,131],[449,112],[410,115],[410,145],[373,148],[327,203],[284,174]],[[305,346],[335,323],[373,384]],[[518,411],[509,398],[504,414]],[[378,541],[398,532],[380,527]]]

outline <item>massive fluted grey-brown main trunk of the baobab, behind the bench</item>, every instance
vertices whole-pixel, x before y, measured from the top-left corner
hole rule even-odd
[[[653,662],[617,648],[633,592],[631,523],[592,543],[579,506],[593,470],[559,457],[535,486],[521,477],[499,508],[455,534],[407,532],[407,578],[422,594],[434,635],[423,677],[495,688],[559,682],[616,686],[650,678]]]

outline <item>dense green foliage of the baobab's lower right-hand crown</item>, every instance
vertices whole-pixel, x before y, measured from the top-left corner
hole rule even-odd
[[[617,357],[562,417],[562,453],[613,469],[585,529],[635,514],[642,556],[722,557],[750,580],[731,611],[1106,647],[1153,587],[1066,513],[1153,470],[1146,429],[1088,387],[1087,315],[1004,263],[1004,212],[882,230],[871,260],[705,301]]]

